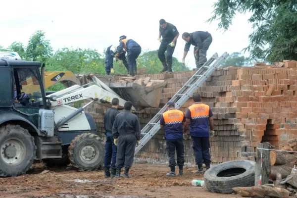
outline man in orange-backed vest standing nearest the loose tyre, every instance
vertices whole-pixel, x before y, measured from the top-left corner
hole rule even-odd
[[[201,103],[201,97],[198,93],[194,93],[192,98],[194,104],[187,110],[184,133],[187,133],[190,125],[192,147],[196,164],[198,165],[196,173],[203,173],[203,163],[206,166],[206,170],[210,168],[209,136],[213,137],[214,135],[213,117],[210,107],[207,104]]]

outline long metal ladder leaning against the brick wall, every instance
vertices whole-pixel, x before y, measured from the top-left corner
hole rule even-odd
[[[214,53],[209,60],[207,60],[202,67],[188,80],[188,82],[170,99],[175,103],[175,108],[179,109],[201,86],[206,79],[225,61],[228,57],[228,53],[224,52],[223,55],[218,57],[217,53]],[[212,64],[213,63],[213,64]],[[135,154],[143,148],[148,141],[159,131],[160,119],[162,113],[167,109],[167,106],[163,106],[161,110],[148,122],[148,124],[141,130],[143,138],[140,141],[140,145],[135,148]]]

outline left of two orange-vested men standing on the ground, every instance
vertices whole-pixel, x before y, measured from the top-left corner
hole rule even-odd
[[[183,166],[185,163],[183,125],[186,122],[184,113],[175,109],[172,101],[167,103],[167,111],[161,115],[160,125],[165,129],[165,139],[167,153],[169,157],[170,172],[166,174],[169,177],[175,177],[175,166],[179,167],[179,175],[183,175]],[[176,158],[175,160],[175,150]]]

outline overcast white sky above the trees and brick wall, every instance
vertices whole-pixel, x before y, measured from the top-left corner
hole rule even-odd
[[[159,19],[174,24],[180,37],[173,56],[182,59],[184,32],[208,31],[213,38],[207,57],[214,52],[241,51],[248,45],[250,14],[238,14],[228,32],[217,30],[217,22],[205,21],[212,16],[217,0],[13,0],[9,9],[0,11],[0,46],[18,41],[27,45],[37,30],[44,30],[54,50],[91,48],[103,51],[116,44],[121,35],[139,43],[143,50],[156,50]],[[192,46],[186,63],[195,67]]]

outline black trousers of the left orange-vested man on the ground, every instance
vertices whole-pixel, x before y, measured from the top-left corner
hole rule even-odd
[[[185,163],[183,139],[166,140],[166,147],[169,157],[169,167],[176,165],[183,166]],[[175,150],[177,160],[175,160]]]

